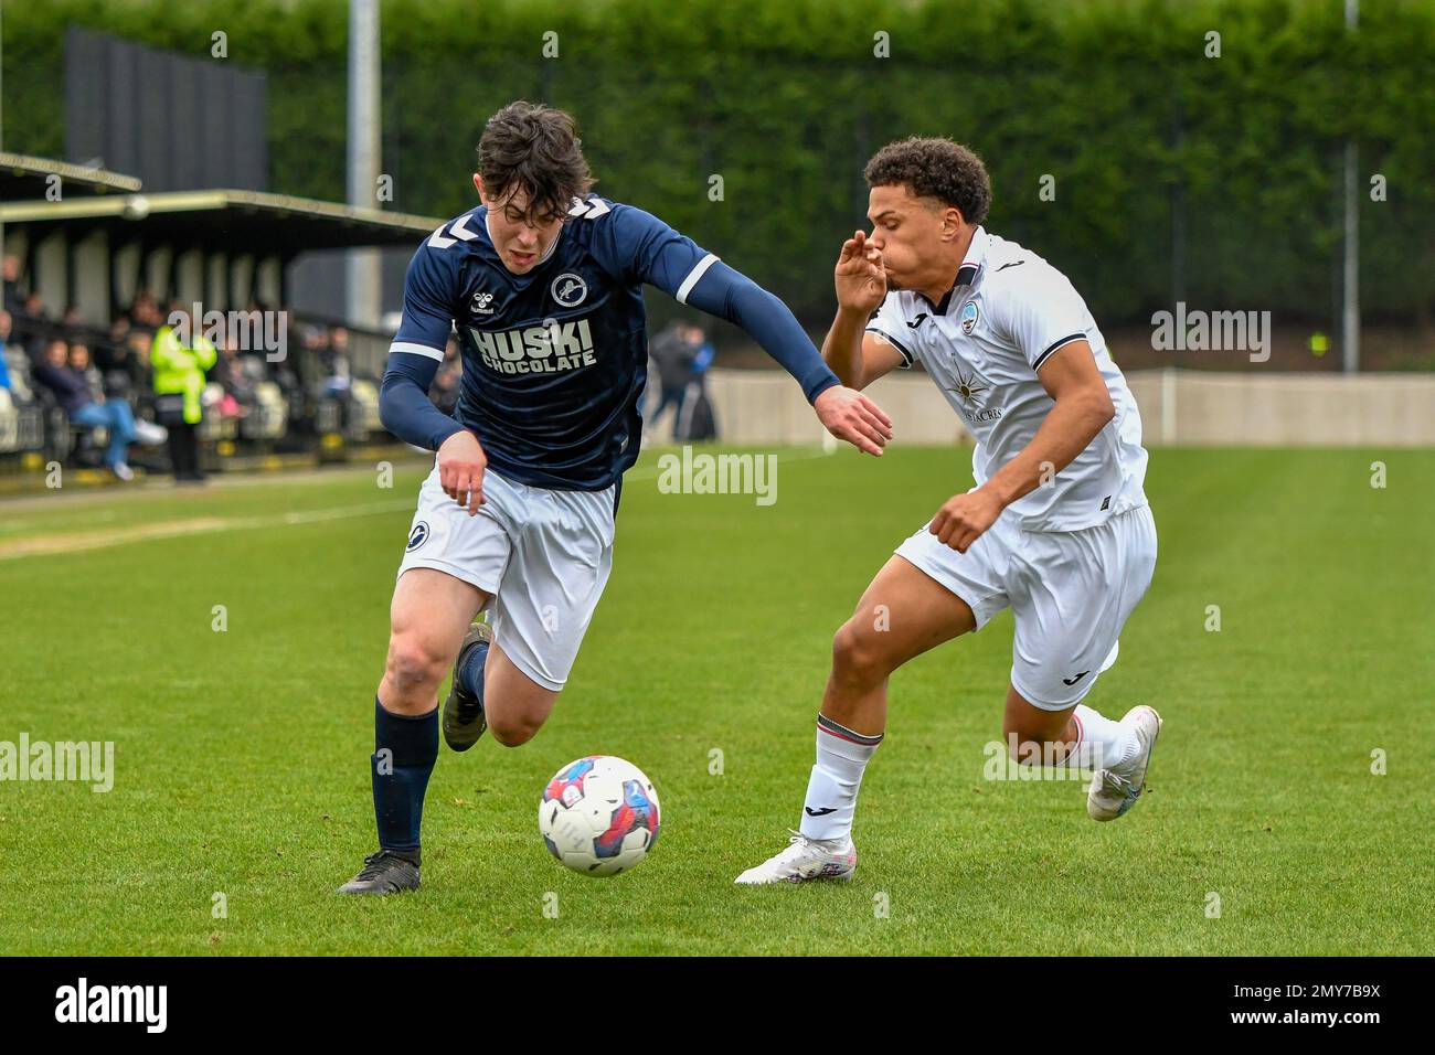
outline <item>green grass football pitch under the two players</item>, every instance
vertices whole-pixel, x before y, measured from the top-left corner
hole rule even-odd
[[[732,884],[796,824],[832,632],[969,458],[788,451],[759,507],[660,494],[647,452],[548,726],[441,748],[423,888],[363,900],[333,891],[375,841],[373,690],[426,466],[0,504],[0,741],[116,745],[108,794],[0,784],[0,949],[1431,953],[1435,451],[1152,454],[1155,581],[1086,700],[1167,719],[1126,818],[983,779],[1003,614],[893,677],[854,883]],[[663,804],[608,880],[537,834],[544,781],[596,752]]]

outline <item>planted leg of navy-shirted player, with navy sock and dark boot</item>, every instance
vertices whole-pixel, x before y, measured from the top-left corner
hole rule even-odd
[[[346,894],[390,894],[419,886],[423,794],[438,758],[438,689],[482,590],[432,568],[399,577],[389,609],[389,656],[375,698],[370,756],[379,853],[340,887]]]

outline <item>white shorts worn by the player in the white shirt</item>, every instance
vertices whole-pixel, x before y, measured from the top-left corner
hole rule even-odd
[[[967,603],[977,630],[1002,609],[1016,620],[1012,685],[1043,711],[1065,711],[1116,662],[1118,637],[1157,564],[1149,505],[1082,531],[1025,531],[1006,511],[966,553],[924,525],[897,555]]]

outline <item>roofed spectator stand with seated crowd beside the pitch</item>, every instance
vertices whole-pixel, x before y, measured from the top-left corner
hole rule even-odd
[[[14,257],[11,300],[34,309],[26,310],[20,342],[32,363],[47,337],[83,340],[106,389],[113,383],[131,399],[136,418],[152,416],[148,342],[169,311],[199,303],[240,313],[238,327],[215,342],[218,357],[205,376],[198,426],[205,468],[344,459],[370,439],[387,439],[377,395],[392,334],[297,316],[287,309],[288,268],[311,251],[412,247],[438,220],[214,189],[7,197],[0,224],[6,255]],[[33,415],[26,426],[37,458],[22,459],[22,468],[63,461],[73,448],[62,435],[67,426],[46,416],[43,396],[39,403],[37,445]],[[0,428],[0,445],[7,436]],[[0,466],[6,461],[0,451]]]

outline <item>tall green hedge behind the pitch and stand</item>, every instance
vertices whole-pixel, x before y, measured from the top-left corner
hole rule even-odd
[[[9,149],[63,149],[66,23],[197,56],[224,30],[228,62],[270,76],[271,188],[343,197],[344,0],[0,1]],[[1388,187],[1362,195],[1366,317],[1435,309],[1431,0],[1365,0],[1353,36],[1342,0],[385,0],[382,19],[395,208],[466,208],[485,118],[542,99],[578,116],[600,191],[819,323],[867,156],[950,135],[987,161],[990,227],[1079,276],[1102,322],[1181,297],[1323,323],[1349,135]]]

